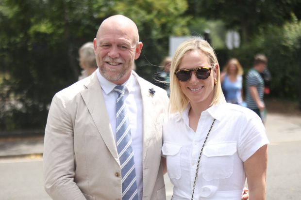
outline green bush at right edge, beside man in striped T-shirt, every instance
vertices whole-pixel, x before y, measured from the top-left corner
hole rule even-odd
[[[278,36],[278,37],[277,37]],[[283,28],[270,28],[263,43],[272,74],[271,92],[277,97],[298,97],[301,46],[301,22],[284,24]]]

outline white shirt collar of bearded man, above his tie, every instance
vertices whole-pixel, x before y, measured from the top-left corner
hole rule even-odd
[[[100,86],[101,86],[102,90],[106,94],[112,92],[113,89],[117,86],[115,83],[112,83],[112,82],[108,81],[107,79],[105,79],[105,77],[103,77],[100,74],[99,70],[97,70],[97,77],[100,82]],[[128,90],[129,92],[132,92],[134,90],[133,74],[131,74],[130,78],[122,85],[126,88],[126,90]]]

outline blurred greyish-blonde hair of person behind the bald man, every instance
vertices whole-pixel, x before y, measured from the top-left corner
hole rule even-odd
[[[93,42],[87,42],[78,51],[80,55],[80,60],[88,68],[97,68],[96,56],[94,54],[94,45]]]

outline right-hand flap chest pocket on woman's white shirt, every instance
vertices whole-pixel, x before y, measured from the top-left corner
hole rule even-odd
[[[202,175],[206,181],[229,178],[233,173],[236,142],[206,144],[201,158]]]

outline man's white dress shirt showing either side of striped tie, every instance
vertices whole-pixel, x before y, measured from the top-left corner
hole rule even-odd
[[[102,77],[99,70],[97,70],[97,77],[100,81],[104,102],[110,119],[110,125],[116,142],[116,101],[117,101],[118,94],[117,92],[113,91],[113,89],[117,85]],[[129,115],[129,121],[131,127],[138,198],[139,200],[142,200],[142,191],[143,191],[142,119],[143,118],[142,118],[141,90],[136,78],[133,75],[131,75],[129,80],[127,80],[122,85],[125,86],[126,88],[124,94],[124,101],[128,109],[128,115]]]

